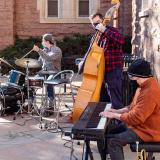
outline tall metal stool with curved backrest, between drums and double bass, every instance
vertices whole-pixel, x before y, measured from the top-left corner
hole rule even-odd
[[[52,85],[54,95],[54,110],[52,112],[57,113],[56,115],[56,123],[58,126],[58,121],[62,112],[70,112],[72,111],[71,106],[67,104],[67,96],[71,96],[71,102],[74,101],[74,94],[72,89],[72,79],[74,76],[74,72],[72,70],[63,70],[58,72],[55,75],[50,75],[47,80],[44,81],[44,86],[46,88],[47,85]],[[44,108],[45,109],[45,108]]]

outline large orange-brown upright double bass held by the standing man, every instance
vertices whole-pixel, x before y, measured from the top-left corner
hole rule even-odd
[[[119,3],[110,8],[103,20],[106,25],[110,22],[113,13],[119,8]],[[101,86],[104,79],[105,59],[104,49],[97,45],[101,32],[96,31],[91,45],[87,51],[83,67],[83,79],[78,89],[72,111],[72,121],[76,122],[86,108],[88,102],[98,102],[100,99]]]

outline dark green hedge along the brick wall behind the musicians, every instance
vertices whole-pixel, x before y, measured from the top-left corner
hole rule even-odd
[[[57,46],[62,49],[62,69],[77,69],[75,66],[75,59],[78,57],[83,57],[88,50],[91,40],[91,35],[74,34],[72,36],[66,36],[62,40],[57,41]],[[33,45],[36,44],[39,47],[41,45],[40,37],[30,37],[28,39],[16,38],[15,44],[7,47],[6,49],[0,51],[0,57],[4,57],[10,64],[22,70],[22,68],[17,67],[14,62],[16,58],[21,58],[29,52]],[[125,36],[125,44],[123,45],[124,53],[131,53],[131,37]],[[27,57],[37,59],[39,57],[38,53],[32,52]],[[5,71],[6,68],[3,70]],[[24,70],[24,69],[23,69]]]

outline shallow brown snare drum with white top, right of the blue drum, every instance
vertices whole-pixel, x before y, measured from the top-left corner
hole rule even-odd
[[[29,86],[31,87],[43,87],[44,77],[29,77]]]

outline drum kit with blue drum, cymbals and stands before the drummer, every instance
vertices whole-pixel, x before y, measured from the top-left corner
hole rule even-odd
[[[31,50],[32,51],[32,50]],[[30,51],[30,52],[31,52]],[[25,56],[27,56],[30,52],[28,52]],[[35,112],[36,114],[39,115],[39,112],[37,110],[37,107],[34,108],[33,102],[30,100],[30,91],[35,90],[35,88],[42,88],[43,89],[43,82],[44,78],[47,77],[47,75],[52,74],[49,73],[49,71],[39,71],[38,74],[43,75],[43,77],[38,77],[38,76],[29,76],[29,69],[30,68],[40,68],[41,65],[39,64],[38,60],[32,59],[32,58],[25,58],[23,56],[20,59],[15,60],[15,64],[19,67],[25,68],[26,73],[20,72],[15,70],[15,68],[9,64],[4,58],[0,58],[0,69],[1,69],[1,63],[4,63],[8,65],[9,67],[12,68],[12,70],[9,72],[9,77],[8,81],[4,83],[3,85],[1,84],[1,79],[0,79],[0,114],[3,115],[4,112],[9,108],[9,105],[13,103],[12,99],[15,95],[9,94],[9,91],[12,89],[14,90],[14,94],[20,94],[20,98],[15,98],[14,102],[16,102],[16,105],[18,105],[18,109],[16,110],[16,114],[14,119],[16,118],[16,115],[18,113],[22,114],[22,110],[24,110],[24,104],[26,103],[27,100],[27,113]],[[1,73],[1,70],[0,70]],[[3,78],[3,76],[2,76]],[[4,81],[3,81],[4,82]],[[11,92],[11,91],[10,91]],[[6,97],[9,97],[8,99]],[[26,104],[25,104],[26,105]]]

